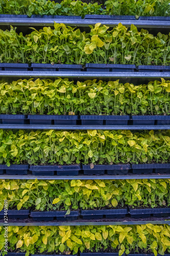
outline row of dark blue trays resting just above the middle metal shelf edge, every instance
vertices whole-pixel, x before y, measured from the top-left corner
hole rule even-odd
[[[46,125],[169,125],[169,116],[0,115],[2,124]],[[81,126],[80,126],[81,129]]]

